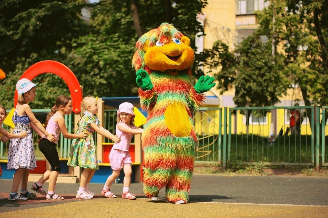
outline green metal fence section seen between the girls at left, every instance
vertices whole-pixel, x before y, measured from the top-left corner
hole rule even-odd
[[[41,123],[44,123],[45,118],[47,114],[50,112],[51,109],[32,109],[32,112],[34,115],[41,121]],[[9,111],[7,111],[9,113]],[[72,118],[72,114],[65,115],[65,123],[67,126],[67,130],[69,133],[74,134],[74,117]],[[2,125],[8,132],[10,132],[10,127],[7,125]],[[44,155],[39,150],[39,139],[40,136],[32,131],[33,133],[33,142],[34,142],[34,151],[35,151],[35,158],[37,160],[44,159]],[[62,134],[60,134],[58,143],[57,143],[57,151],[59,154],[59,158],[68,158],[70,153],[70,147],[71,147],[71,139],[64,138]],[[0,142],[0,159],[7,159],[8,156],[8,146],[9,142],[7,141],[5,143]]]

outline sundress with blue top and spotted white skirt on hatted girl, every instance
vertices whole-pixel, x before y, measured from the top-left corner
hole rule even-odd
[[[15,111],[12,121],[15,124],[12,133],[19,134],[21,131],[26,131],[27,137],[10,139],[7,170],[15,170],[18,168],[33,170],[33,168],[36,167],[36,160],[30,127],[31,120],[26,115],[17,115]]]

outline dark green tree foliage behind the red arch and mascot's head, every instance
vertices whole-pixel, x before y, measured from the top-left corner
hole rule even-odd
[[[1,104],[13,106],[17,80],[42,60],[59,61],[72,69],[84,95],[136,96],[131,66],[140,35],[136,30],[145,33],[162,22],[173,23],[195,45],[195,34],[203,31],[196,14],[206,4],[206,0],[103,0],[92,5],[83,0],[3,0],[0,68],[7,77],[0,81]],[[92,9],[88,24],[81,19],[83,7]],[[194,75],[201,73],[195,70]],[[58,95],[69,95],[66,84],[55,75],[40,75],[33,82],[38,88],[32,108],[49,108]]]

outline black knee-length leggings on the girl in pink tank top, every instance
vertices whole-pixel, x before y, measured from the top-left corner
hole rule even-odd
[[[60,172],[60,162],[56,143],[53,143],[46,138],[42,138],[39,144],[39,148],[50,163],[51,170]]]

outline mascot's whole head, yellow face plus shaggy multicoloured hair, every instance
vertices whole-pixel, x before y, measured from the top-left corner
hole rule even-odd
[[[190,69],[194,63],[190,39],[168,23],[145,33],[135,46],[138,50],[133,55],[132,64],[136,71],[181,71]]]

